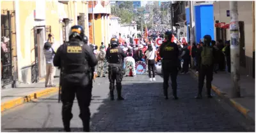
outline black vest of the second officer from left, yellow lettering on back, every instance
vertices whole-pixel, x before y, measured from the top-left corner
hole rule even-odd
[[[118,47],[110,48],[108,58],[109,58],[109,64],[121,64],[122,63]]]

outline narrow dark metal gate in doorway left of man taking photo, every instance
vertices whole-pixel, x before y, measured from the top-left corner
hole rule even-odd
[[[39,67],[38,67],[38,42],[37,42],[38,29],[34,27],[34,44],[35,44],[35,64],[31,68],[31,82],[37,83],[39,81]]]

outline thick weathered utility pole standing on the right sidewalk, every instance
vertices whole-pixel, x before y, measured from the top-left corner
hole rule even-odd
[[[232,79],[232,97],[240,97],[240,47],[239,47],[239,24],[238,24],[238,11],[237,1],[229,2],[230,8],[230,57],[231,57],[231,79]]]

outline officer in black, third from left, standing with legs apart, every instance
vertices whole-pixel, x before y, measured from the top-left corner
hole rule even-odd
[[[159,55],[162,60],[163,69],[163,88],[165,99],[168,99],[168,81],[171,76],[174,99],[177,97],[177,74],[179,68],[179,48],[176,43],[172,43],[172,32],[167,31],[164,34],[166,41],[160,46]]]

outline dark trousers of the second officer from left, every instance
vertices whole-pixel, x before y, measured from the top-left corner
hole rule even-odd
[[[119,67],[117,67],[119,66]],[[122,79],[123,79],[123,69],[120,65],[116,64],[116,66],[109,66],[108,68],[109,74],[109,90],[113,91],[115,89],[115,81],[116,81],[116,90],[118,92],[118,97],[121,96],[122,89]]]

